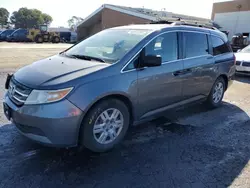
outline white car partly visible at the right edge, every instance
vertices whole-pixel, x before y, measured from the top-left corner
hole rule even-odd
[[[250,74],[250,45],[235,53],[237,73]]]

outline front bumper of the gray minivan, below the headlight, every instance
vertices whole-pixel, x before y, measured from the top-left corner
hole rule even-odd
[[[6,105],[13,124],[29,139],[54,147],[77,145],[83,112],[68,100],[17,107],[5,95],[5,108]]]

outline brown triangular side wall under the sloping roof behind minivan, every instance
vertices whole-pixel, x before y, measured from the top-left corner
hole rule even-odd
[[[102,12],[102,29],[149,22],[150,21],[147,19],[131,16],[111,9],[104,9]]]

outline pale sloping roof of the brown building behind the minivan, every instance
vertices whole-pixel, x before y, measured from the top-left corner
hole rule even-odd
[[[211,22],[210,19],[206,18],[199,18],[194,16],[187,16],[183,14],[175,14],[172,12],[167,11],[156,11],[152,9],[146,9],[146,8],[132,8],[132,7],[125,7],[125,6],[118,6],[118,5],[110,5],[110,4],[104,4],[101,7],[99,7],[97,10],[95,10],[92,14],[87,16],[79,25],[87,22],[89,19],[91,19],[96,14],[100,13],[103,9],[108,8],[111,10],[115,10],[124,14],[136,16],[139,18],[144,18],[149,21],[156,21],[160,20],[162,18],[182,18],[186,20],[197,20],[197,21],[203,21],[203,22]]]

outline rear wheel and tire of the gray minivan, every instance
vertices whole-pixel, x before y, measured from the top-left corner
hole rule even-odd
[[[220,91],[218,90],[218,87],[221,88]],[[216,90],[218,91],[217,96],[215,94]],[[224,97],[225,90],[226,90],[225,80],[222,77],[219,77],[215,81],[210,91],[210,94],[207,98],[207,105],[209,108],[217,108],[222,104],[222,99]]]

